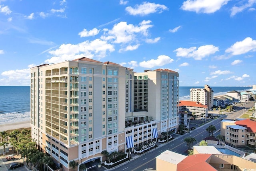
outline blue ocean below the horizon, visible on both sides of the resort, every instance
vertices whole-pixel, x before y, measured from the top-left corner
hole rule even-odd
[[[190,88],[204,87],[179,87],[179,100],[189,100]],[[212,87],[214,96],[226,94],[236,90],[243,92],[251,87]],[[23,122],[30,120],[30,86],[0,86],[0,124]]]

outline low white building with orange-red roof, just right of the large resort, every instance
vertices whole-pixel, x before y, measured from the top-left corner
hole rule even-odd
[[[179,111],[188,112],[188,115],[190,116],[208,116],[208,106],[203,105],[200,102],[180,100]]]

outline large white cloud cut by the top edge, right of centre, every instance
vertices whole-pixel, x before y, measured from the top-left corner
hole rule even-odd
[[[181,9],[196,13],[214,13],[223,5],[228,4],[229,0],[186,0],[183,2]]]

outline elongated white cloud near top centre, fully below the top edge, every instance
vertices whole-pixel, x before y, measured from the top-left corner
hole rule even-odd
[[[128,6],[125,8],[125,10],[133,16],[139,15],[139,16],[146,16],[150,13],[161,13],[163,10],[168,10],[168,8],[165,5],[150,3],[150,2],[143,2],[142,4],[135,5],[135,8],[132,8],[131,6]]]

